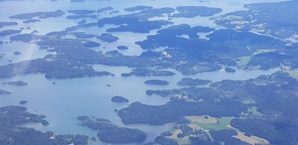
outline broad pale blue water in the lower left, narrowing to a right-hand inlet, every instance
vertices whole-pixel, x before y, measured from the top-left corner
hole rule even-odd
[[[44,74],[30,74],[15,76],[12,78],[1,78],[0,82],[12,80],[23,80],[28,83],[27,86],[9,87],[1,85],[1,88],[12,92],[10,95],[0,96],[0,106],[19,105],[21,100],[27,100],[24,105],[28,107],[29,112],[45,114],[50,122],[48,126],[40,124],[30,124],[26,127],[34,127],[37,130],[53,131],[57,134],[78,133],[96,136],[96,131],[77,126],[76,116],[87,115],[102,117],[112,122],[123,125],[114,109],[121,109],[129,105],[128,103],[111,102],[111,97],[115,95],[125,96],[130,100],[129,103],[141,101],[151,105],[160,105],[166,103],[169,98],[157,95],[148,96],[148,89],[171,89],[179,88],[176,83],[183,77],[210,79],[219,81],[222,79],[248,79],[260,74],[271,74],[277,70],[269,71],[243,71],[237,70],[236,73],[224,71],[203,72],[197,75],[184,76],[175,70],[174,76],[130,76],[121,77],[122,72],[130,72],[127,67],[110,67],[103,65],[94,66],[97,71],[109,71],[115,76],[102,76],[91,78],[73,78],[73,79],[46,79]],[[144,84],[148,79],[163,79],[170,82],[165,86],[152,86]],[[52,82],[56,84],[53,85]],[[111,84],[107,87],[106,84]],[[124,125],[123,125],[124,126]],[[150,125],[131,125],[130,128],[138,128],[148,133],[148,141],[167,129],[166,126]]]

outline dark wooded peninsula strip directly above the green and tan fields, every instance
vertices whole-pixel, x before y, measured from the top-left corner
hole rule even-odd
[[[223,116],[237,117],[246,110],[247,108],[239,102],[187,102],[184,99],[176,99],[157,106],[134,102],[129,107],[120,109],[118,115],[126,124],[162,125],[179,122],[185,116],[191,115],[208,114],[218,118]]]

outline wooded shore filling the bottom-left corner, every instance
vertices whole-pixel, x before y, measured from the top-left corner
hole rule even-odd
[[[47,125],[45,117],[29,113],[22,106],[0,107],[0,145],[87,145],[88,137],[84,135],[55,135],[20,127],[26,123]]]

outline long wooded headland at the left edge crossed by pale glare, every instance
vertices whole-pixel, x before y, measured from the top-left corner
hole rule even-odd
[[[74,78],[92,77],[102,75],[114,75],[110,72],[96,72],[92,66],[76,63],[68,60],[47,61],[36,59],[0,66],[0,77],[30,73],[46,73],[46,78]]]

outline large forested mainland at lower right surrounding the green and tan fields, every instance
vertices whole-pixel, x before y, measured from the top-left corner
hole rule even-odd
[[[298,143],[298,114],[291,110],[296,109],[298,102],[297,86],[298,80],[289,73],[279,71],[248,80],[213,82],[210,87],[205,88],[149,90],[149,94],[154,92],[162,96],[181,95],[187,98],[173,99],[157,106],[134,102],[129,107],[120,109],[118,115],[127,124],[153,125],[179,123],[185,116],[191,115],[207,114],[217,118],[234,116],[236,118],[231,120],[230,125],[247,135],[264,138],[272,144],[295,145]],[[200,101],[189,101],[189,98]],[[247,109],[251,106],[257,106],[257,111],[264,115],[249,112]],[[214,131],[211,135],[226,144],[244,145],[231,138],[229,132]]]

